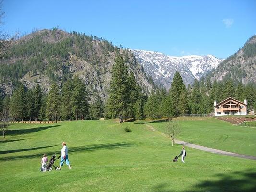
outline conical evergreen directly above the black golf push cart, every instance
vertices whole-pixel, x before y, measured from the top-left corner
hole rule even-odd
[[[49,120],[57,122],[60,117],[61,94],[56,83],[51,84],[46,100],[46,116]]]

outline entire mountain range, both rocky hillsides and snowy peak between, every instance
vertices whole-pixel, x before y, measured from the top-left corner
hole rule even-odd
[[[256,36],[252,36],[234,55],[218,59],[213,55],[173,57],[163,53],[123,49],[110,41],[77,32],[53,28],[36,31],[17,40],[0,43],[0,92],[12,94],[15,86],[28,88],[40,84],[48,92],[52,81],[60,86],[77,75],[86,84],[91,100],[105,100],[116,54],[121,54],[144,93],[154,83],[169,89],[178,71],[183,82],[192,84],[202,76],[212,81],[232,78],[244,84],[256,83]]]

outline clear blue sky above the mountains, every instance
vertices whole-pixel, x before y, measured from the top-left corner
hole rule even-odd
[[[256,0],[3,0],[9,34],[59,26],[124,48],[226,58],[256,34]]]

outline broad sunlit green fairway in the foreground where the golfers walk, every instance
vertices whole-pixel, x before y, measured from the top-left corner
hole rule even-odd
[[[232,130],[231,125],[219,120],[213,119],[212,123],[224,126],[222,129]],[[152,125],[156,124],[159,127],[161,125]],[[189,127],[194,126],[195,131],[195,127],[202,125],[202,122],[184,120],[182,125],[186,132],[182,133],[181,138],[191,141],[193,135],[187,133],[192,134],[193,131],[189,132]],[[126,126],[132,132],[125,132]],[[236,127],[233,128],[235,132]],[[217,135],[217,131],[211,134],[209,128],[207,130],[209,137]],[[237,139],[235,135],[232,136],[234,140]],[[245,135],[247,138],[247,133]],[[204,138],[207,137],[201,140]],[[50,158],[55,153],[60,154],[63,139],[69,148],[69,160],[73,168],[68,169],[64,165],[61,171],[40,172],[42,155],[46,153]],[[180,158],[179,162],[172,162],[180,150],[181,146],[171,147],[170,140],[159,132],[132,122],[121,125],[114,120],[50,125],[14,124],[10,126],[6,139],[0,137],[0,191],[256,191],[256,161],[186,148],[186,163],[181,163]]]

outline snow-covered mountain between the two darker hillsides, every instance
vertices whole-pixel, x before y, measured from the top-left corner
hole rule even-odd
[[[213,55],[172,57],[154,51],[131,51],[143,66],[146,75],[151,76],[156,84],[167,89],[170,88],[176,71],[181,74],[184,84],[193,84],[195,78],[200,79],[203,75],[215,69],[222,61],[222,59]]]

